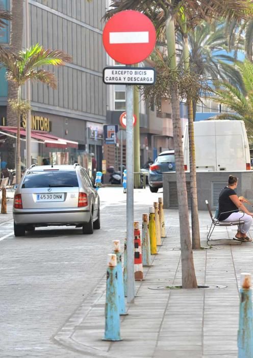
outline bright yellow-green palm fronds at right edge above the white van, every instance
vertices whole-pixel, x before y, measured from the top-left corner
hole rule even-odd
[[[215,119],[243,120],[247,129],[253,129],[253,63],[249,60],[236,62],[243,86],[234,86],[229,81],[217,81],[212,99],[227,106],[234,113],[215,116]]]

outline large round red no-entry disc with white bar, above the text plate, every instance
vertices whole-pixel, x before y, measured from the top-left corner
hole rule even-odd
[[[106,52],[115,61],[134,64],[143,61],[156,44],[156,29],[149,18],[134,10],[120,11],[103,31]]]

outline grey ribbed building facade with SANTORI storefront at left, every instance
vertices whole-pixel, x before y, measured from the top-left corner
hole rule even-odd
[[[10,8],[9,0],[1,1]],[[60,49],[72,57],[71,63],[49,69],[57,77],[56,90],[32,83],[32,129],[59,137],[59,142],[78,142],[75,147],[62,145],[57,148],[34,140],[32,157],[38,162],[48,158],[59,164],[79,161],[87,165],[85,161],[89,151],[95,155],[97,169],[101,169],[101,133],[106,123],[106,85],[102,80],[106,53],[102,42],[102,17],[106,5],[106,0],[93,0],[91,3],[84,0],[29,0],[31,44]],[[8,126],[8,84],[3,69],[0,77],[0,125]],[[22,98],[25,97],[26,88],[23,87]],[[21,126],[26,127],[25,120],[21,120]],[[22,143],[21,161],[24,162],[25,142]],[[8,160],[5,149],[2,145],[1,154]]]

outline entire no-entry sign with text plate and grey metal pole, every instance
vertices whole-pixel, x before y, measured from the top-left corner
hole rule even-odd
[[[127,65],[114,66],[103,71],[107,84],[126,84],[126,250],[128,256],[128,303],[134,303],[134,136],[133,85],[155,82],[155,71],[150,68],[131,68],[147,58],[156,44],[156,30],[150,19],[134,11],[120,11],[110,18],[103,31],[106,52],[115,61]]]

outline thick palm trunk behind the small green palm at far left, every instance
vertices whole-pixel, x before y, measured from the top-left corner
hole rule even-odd
[[[22,0],[12,0],[12,21],[11,21],[11,39],[10,47],[13,52],[18,52],[22,50],[22,34],[23,34],[23,1]],[[17,100],[18,86],[16,83],[9,81],[8,82],[8,100],[15,99]],[[7,103],[7,125],[16,126],[17,125],[17,114]],[[8,167],[15,167],[15,140],[9,138],[7,141],[8,146]]]

